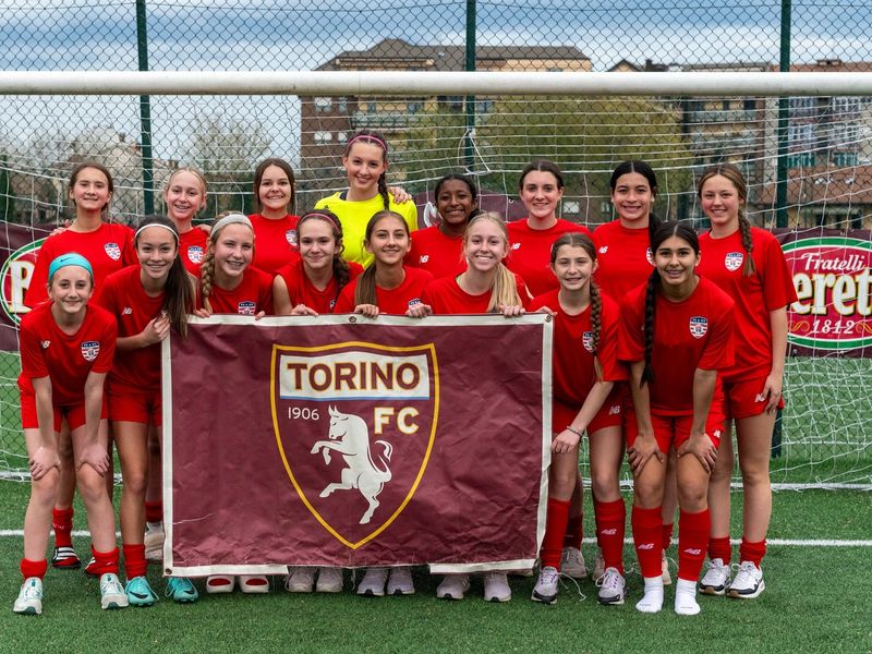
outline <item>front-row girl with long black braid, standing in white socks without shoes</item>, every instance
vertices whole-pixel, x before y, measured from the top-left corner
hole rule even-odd
[[[630,366],[634,411],[627,415],[633,473],[633,543],[645,583],[635,607],[663,608],[663,518],[666,457],[677,455],[678,582],[675,611],[700,613],[697,580],[708,542],[708,475],[724,431],[718,371],[734,362],[735,308],[717,284],[697,275],[697,232],[666,222],[651,243],[655,269],[620,306],[618,359]]]

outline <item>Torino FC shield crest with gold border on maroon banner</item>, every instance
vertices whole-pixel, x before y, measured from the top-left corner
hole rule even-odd
[[[346,546],[375,538],[412,501],[429,460],[439,413],[434,346],[274,346],[271,386],[276,437],[300,500]]]

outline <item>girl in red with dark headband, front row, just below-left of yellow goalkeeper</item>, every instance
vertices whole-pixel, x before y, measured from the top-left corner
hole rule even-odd
[[[341,290],[363,268],[342,258],[342,226],[332,211],[303,214],[296,234],[302,258],[279,268],[272,280],[276,315],[332,313]]]

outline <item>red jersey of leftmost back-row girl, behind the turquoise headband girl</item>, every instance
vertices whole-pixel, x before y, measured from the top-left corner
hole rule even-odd
[[[136,249],[133,246],[133,230],[126,225],[104,222],[93,232],[75,232],[71,229],[49,237],[39,249],[36,266],[24,303],[34,307],[48,300],[48,267],[62,254],[75,252],[90,264],[94,270],[94,295],[92,302],[102,292],[104,280],[124,266],[138,264]]]

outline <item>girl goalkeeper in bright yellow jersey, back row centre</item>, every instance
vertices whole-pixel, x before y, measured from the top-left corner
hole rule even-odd
[[[329,209],[339,216],[346,235],[346,259],[366,266],[373,256],[364,249],[363,240],[373,214],[379,210],[395,211],[402,216],[412,232],[417,229],[417,209],[405,192],[388,189],[385,179],[388,142],[377,132],[361,130],[349,138],[342,166],[348,173],[349,187],[323,197],[315,203],[315,208]],[[400,202],[397,196],[401,198]]]

